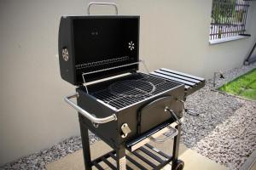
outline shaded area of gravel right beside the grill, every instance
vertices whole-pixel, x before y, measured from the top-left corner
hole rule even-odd
[[[182,142],[191,148],[205,138],[218,124],[226,121],[242,104],[235,97],[211,91],[209,86],[189,96],[186,107],[199,116],[184,113]]]

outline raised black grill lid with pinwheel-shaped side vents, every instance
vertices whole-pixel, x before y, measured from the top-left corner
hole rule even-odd
[[[138,44],[139,16],[61,17],[61,77],[79,85],[137,71]]]

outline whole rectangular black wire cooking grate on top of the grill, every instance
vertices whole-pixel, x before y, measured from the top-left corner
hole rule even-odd
[[[121,109],[180,86],[177,82],[170,82],[145,74],[139,75],[139,78],[128,78],[127,80],[114,82],[107,88],[90,93],[90,95],[116,109]]]

